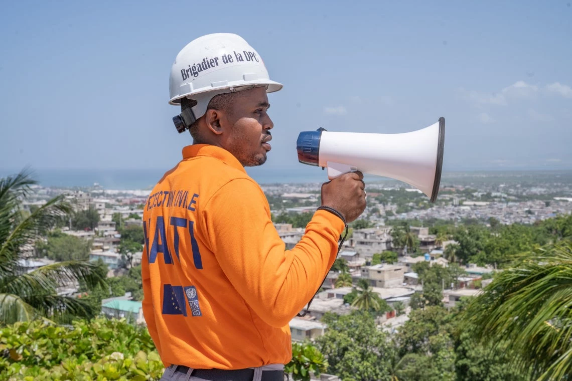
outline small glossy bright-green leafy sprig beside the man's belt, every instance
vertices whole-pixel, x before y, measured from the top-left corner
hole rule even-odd
[[[320,376],[328,368],[324,355],[311,343],[292,343],[292,360],[284,371],[292,374],[294,380],[309,381],[310,375]]]

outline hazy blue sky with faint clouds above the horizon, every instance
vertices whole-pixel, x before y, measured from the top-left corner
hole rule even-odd
[[[297,162],[301,131],[404,133],[439,117],[444,171],[572,169],[564,0],[5,2],[0,170],[173,167],[191,139],[172,123],[170,67],[220,32],[284,84],[260,170],[317,171]]]

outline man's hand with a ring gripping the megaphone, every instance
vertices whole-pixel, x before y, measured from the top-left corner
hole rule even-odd
[[[366,208],[365,188],[363,173],[345,173],[322,185],[322,206],[329,206],[339,211],[344,216],[345,222],[350,223]]]

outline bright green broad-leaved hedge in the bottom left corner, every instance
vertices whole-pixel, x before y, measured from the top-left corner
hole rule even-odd
[[[0,329],[0,380],[158,380],[164,366],[145,327],[125,319],[45,321]]]

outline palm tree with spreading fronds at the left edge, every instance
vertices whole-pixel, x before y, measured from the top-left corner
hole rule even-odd
[[[49,264],[27,274],[19,270],[22,247],[33,244],[70,212],[69,204],[58,196],[26,213],[22,200],[35,183],[26,172],[0,179],[0,325],[40,316],[90,316],[88,303],[58,295],[57,287],[73,282],[95,287],[105,282],[94,263],[80,260]]]

